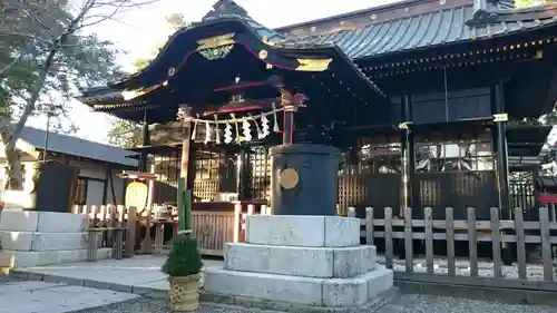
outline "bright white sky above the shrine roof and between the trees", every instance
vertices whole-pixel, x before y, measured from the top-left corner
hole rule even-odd
[[[101,39],[115,42],[120,50],[118,62],[133,70],[131,63],[138,58],[153,57],[154,49],[164,43],[172,30],[165,17],[183,13],[186,21],[199,21],[208,12],[216,0],[160,0],[157,3],[135,9],[118,16],[117,21],[106,21],[91,27],[90,32]],[[270,28],[287,26],[319,18],[341,14],[395,2],[395,0],[236,0],[250,16]],[[84,139],[105,141],[111,120],[104,114],[91,113],[79,102],[71,104],[70,118],[79,128],[77,136]],[[29,120],[30,126],[45,126],[43,119]]]

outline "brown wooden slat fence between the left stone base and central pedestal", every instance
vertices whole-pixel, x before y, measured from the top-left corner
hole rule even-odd
[[[194,208],[192,212],[193,232],[199,241],[203,255],[223,256],[225,243],[244,241],[247,215],[270,214],[266,205],[240,202],[221,204],[226,205]],[[111,247],[115,258],[135,254],[165,254],[169,250],[169,237],[165,236],[165,231],[170,227],[175,234],[178,227],[177,212],[166,217],[155,217],[149,216],[147,211],[139,214],[135,207],[121,205],[75,206],[72,212],[89,217],[89,261],[97,260],[97,250],[101,247]]]

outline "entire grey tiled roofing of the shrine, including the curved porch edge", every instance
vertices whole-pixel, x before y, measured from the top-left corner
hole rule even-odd
[[[419,1],[403,1],[410,4]],[[473,2],[473,3],[472,3]],[[400,3],[392,4],[393,8]],[[286,28],[278,31],[264,27],[254,21],[247,12],[232,0],[221,0],[214,6],[202,22],[192,23],[176,32],[167,46],[180,33],[190,29],[212,25],[214,22],[242,22],[258,38],[278,43],[289,49],[319,49],[338,47],[343,57],[354,61],[381,57],[389,53],[412,51],[440,47],[448,43],[459,43],[487,38],[496,38],[539,29],[549,25],[557,25],[557,7],[543,6],[531,9],[517,10],[510,0],[499,0],[497,7],[487,8],[487,0],[473,0],[466,4],[453,4],[444,9],[436,9],[413,16],[381,20],[358,27],[344,27],[331,31],[305,37],[284,35]],[[399,6],[400,7],[400,6]],[[485,9],[486,7],[487,9]],[[389,9],[388,7],[382,10]],[[400,9],[400,8],[399,8]],[[296,26],[300,27],[300,26]],[[166,48],[167,48],[166,46]],[[163,49],[164,50],[164,49]],[[156,60],[154,61],[156,62]],[[364,75],[354,67],[356,74]],[[145,71],[145,70],[144,70]],[[141,75],[137,72],[120,80],[129,81]],[[118,82],[116,82],[117,85]],[[375,90],[379,90],[371,81]],[[121,88],[91,88],[82,92],[81,101],[114,101],[121,96]]]

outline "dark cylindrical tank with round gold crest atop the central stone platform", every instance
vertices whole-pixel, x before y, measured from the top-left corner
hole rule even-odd
[[[340,150],[296,144],[271,148],[274,215],[335,216]]]

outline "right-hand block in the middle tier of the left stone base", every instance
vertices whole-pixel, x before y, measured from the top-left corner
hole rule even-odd
[[[40,222],[39,222],[40,223]],[[87,248],[87,233],[36,233],[32,251]]]

